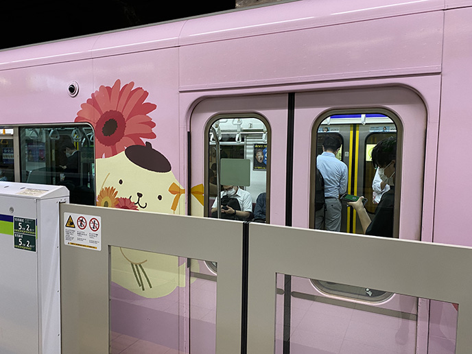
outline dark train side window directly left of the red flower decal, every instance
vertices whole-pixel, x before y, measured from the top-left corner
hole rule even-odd
[[[64,185],[76,204],[95,205],[93,129],[88,125],[20,128],[21,182]]]

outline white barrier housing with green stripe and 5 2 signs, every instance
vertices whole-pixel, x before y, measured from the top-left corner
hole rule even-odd
[[[0,182],[0,353],[60,353],[62,186]]]

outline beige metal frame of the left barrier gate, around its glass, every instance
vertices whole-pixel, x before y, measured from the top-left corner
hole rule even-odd
[[[71,213],[101,220],[100,251],[64,244]],[[62,353],[109,353],[110,246],[217,262],[216,352],[241,353],[244,224],[75,204],[60,215]]]

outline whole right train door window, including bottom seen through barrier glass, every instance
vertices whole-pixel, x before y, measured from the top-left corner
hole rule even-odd
[[[312,134],[313,146],[316,153],[312,154],[312,176],[316,169],[324,180],[325,204],[320,202],[322,188],[317,178],[311,182],[311,211],[312,228],[346,233],[359,233],[384,237],[398,237],[395,226],[394,211],[399,205],[398,196],[394,193],[395,180],[400,174],[395,174],[399,165],[397,156],[397,124],[399,119],[388,112],[352,112],[336,113],[320,117],[320,123]],[[377,143],[373,163],[372,152]],[[386,152],[381,154],[379,151]],[[333,156],[333,154],[335,156]],[[385,156],[384,156],[385,155]],[[320,157],[321,156],[321,157]],[[335,157],[336,160],[333,158]],[[333,159],[331,159],[333,158]],[[379,176],[384,172],[384,180]],[[319,178],[318,178],[319,180]],[[318,198],[317,198],[318,193]],[[366,201],[360,207],[359,213],[340,199],[343,193],[353,196],[363,196]],[[380,200],[383,200],[379,204]],[[381,213],[376,215],[376,209]],[[379,217],[384,216],[382,222]],[[361,220],[367,216],[368,219]],[[377,217],[377,221],[375,219]],[[373,221],[371,221],[373,220]],[[378,225],[380,225],[377,227]],[[358,300],[381,301],[390,297],[389,293],[350,285],[311,280],[318,290],[336,296],[347,296]]]

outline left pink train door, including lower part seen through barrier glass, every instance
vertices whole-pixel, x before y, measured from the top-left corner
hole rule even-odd
[[[190,120],[191,215],[285,225],[287,102],[284,94],[212,98],[196,106]],[[217,213],[218,195],[221,211],[230,213]],[[211,259],[191,262],[190,353],[215,353],[208,343],[214,342],[217,266]],[[204,296],[193,296],[202,290]],[[209,314],[198,318],[202,308]]]

